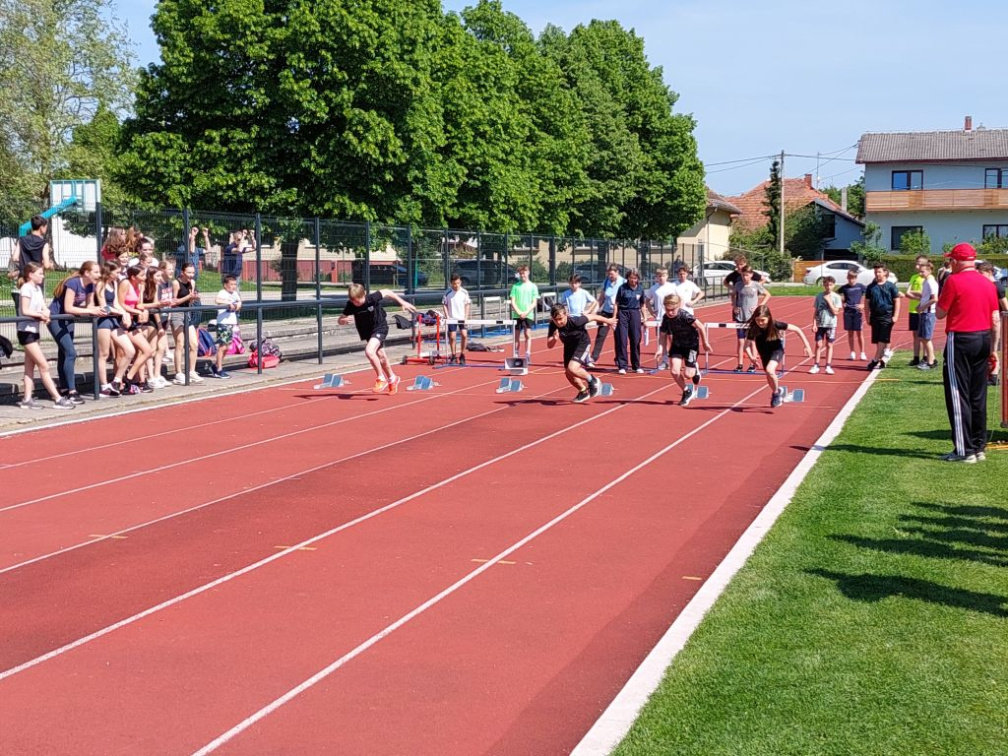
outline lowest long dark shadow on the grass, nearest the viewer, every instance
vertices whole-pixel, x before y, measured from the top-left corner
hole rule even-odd
[[[841,593],[853,601],[875,603],[888,598],[913,599],[994,617],[1008,617],[1008,597],[996,594],[966,591],[892,575],[844,575],[828,570],[805,572],[833,581]]]

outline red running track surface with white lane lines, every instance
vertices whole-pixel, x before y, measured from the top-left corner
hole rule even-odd
[[[220,752],[569,752],[865,373],[802,367],[805,404],[773,411],[762,376],[719,374],[688,408],[667,375],[576,405],[558,357],[515,395],[444,369],[19,436],[0,753],[194,753],[238,725]]]

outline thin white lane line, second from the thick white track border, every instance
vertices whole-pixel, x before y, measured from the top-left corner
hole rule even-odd
[[[646,399],[646,398],[648,398],[650,396],[653,396],[654,394],[659,393],[660,391],[663,391],[666,388],[668,388],[668,385],[662,385],[660,388],[656,388],[656,389],[654,389],[652,391],[648,391],[647,393],[642,394],[641,396],[635,397],[634,399],[631,399],[631,400],[627,401],[624,404],[618,404],[618,405],[616,405],[616,406],[614,406],[614,407],[612,407],[610,409],[606,409],[606,410],[604,410],[602,412],[599,412],[598,414],[594,414],[591,417],[586,417],[584,420],[580,420],[579,422],[576,422],[576,423],[574,423],[572,425],[568,425],[566,427],[560,428],[559,430],[554,430],[553,432],[548,433],[547,435],[541,436],[540,438],[536,438],[533,442],[529,442],[528,444],[525,444],[524,446],[518,447],[517,449],[513,449],[510,452],[506,452],[506,453],[504,453],[502,455],[498,455],[497,457],[494,457],[493,459],[487,460],[486,462],[481,462],[479,465],[475,465],[474,467],[471,467],[468,470],[464,470],[461,473],[457,473],[456,475],[453,475],[450,478],[446,478],[445,480],[439,481],[438,483],[433,483],[433,484],[431,484],[429,486],[426,486],[425,488],[422,488],[419,491],[415,491],[415,492],[413,492],[413,493],[411,493],[411,494],[409,494],[407,496],[404,496],[401,499],[397,499],[396,501],[391,502],[390,504],[386,504],[383,507],[379,507],[378,509],[373,509],[370,512],[368,512],[367,514],[363,514],[360,517],[357,517],[357,518],[355,518],[353,520],[349,520],[348,522],[344,522],[341,525],[337,525],[336,527],[334,527],[334,528],[332,528],[330,530],[327,530],[324,533],[320,533],[318,535],[311,536],[310,538],[306,538],[305,540],[302,540],[300,543],[295,543],[294,545],[290,546],[289,548],[285,548],[284,550],[278,551],[275,554],[272,554],[270,556],[262,558],[259,561],[253,562],[252,564],[248,564],[248,565],[242,568],[241,570],[237,570],[237,571],[235,571],[233,573],[229,573],[228,575],[221,576],[217,580],[214,580],[214,581],[211,581],[210,583],[204,584],[203,586],[195,588],[192,591],[186,591],[184,594],[181,594],[179,596],[175,596],[174,598],[168,599],[167,601],[163,601],[160,604],[157,604],[156,606],[144,609],[141,612],[137,612],[136,614],[134,614],[134,615],[132,615],[130,617],[127,617],[127,618],[125,618],[123,620],[120,620],[119,622],[116,622],[116,623],[114,623],[112,625],[108,625],[107,627],[104,627],[101,630],[96,630],[95,632],[90,633],[89,635],[86,635],[83,638],[78,638],[75,641],[72,641],[70,643],[67,643],[66,645],[62,645],[59,648],[55,648],[55,649],[53,649],[51,651],[48,651],[48,652],[46,652],[46,653],[44,653],[44,654],[42,654],[40,656],[36,656],[33,659],[29,659],[28,661],[25,661],[25,662],[23,662],[21,664],[18,664],[17,666],[10,667],[9,669],[6,669],[6,670],[0,672],[0,681],[3,681],[5,679],[7,679],[8,677],[17,674],[18,672],[22,672],[25,669],[30,669],[33,666],[37,666],[38,664],[41,664],[43,661],[48,661],[49,659],[53,659],[56,656],[60,656],[60,655],[62,655],[65,653],[67,653],[68,651],[74,650],[75,648],[80,648],[81,646],[83,646],[83,645],[85,645],[87,643],[90,643],[93,640],[97,640],[98,638],[104,637],[104,636],[108,635],[109,633],[114,632],[115,630],[119,630],[120,628],[126,627],[127,625],[131,625],[134,622],[137,622],[138,620],[142,620],[145,617],[149,617],[150,615],[155,614],[156,612],[160,612],[163,609],[167,609],[169,607],[174,606],[175,604],[179,604],[179,603],[185,601],[186,599],[191,599],[191,598],[193,598],[195,596],[199,596],[200,594],[206,593],[207,591],[211,591],[211,590],[217,588],[218,586],[224,585],[225,583],[230,583],[231,581],[235,580],[236,578],[240,578],[243,575],[247,575],[248,573],[251,573],[251,572],[253,572],[255,570],[258,570],[261,566],[265,566],[266,564],[269,564],[270,562],[273,562],[273,561],[276,561],[277,559],[283,558],[287,554],[294,553],[294,552],[298,551],[299,549],[304,548],[305,546],[310,546],[310,545],[312,545],[314,543],[318,543],[319,541],[324,540],[324,539],[330,537],[331,535],[335,535],[335,534],[340,533],[340,532],[342,532],[344,530],[348,530],[351,527],[354,527],[355,525],[359,525],[362,522],[366,522],[367,520],[370,520],[370,519],[372,519],[374,517],[377,517],[380,514],[384,514],[385,512],[389,512],[389,511],[391,511],[393,509],[396,509],[397,507],[400,507],[403,504],[412,501],[413,499],[419,498],[420,496],[424,496],[424,495],[430,493],[431,491],[436,491],[437,489],[443,488],[443,487],[445,487],[445,486],[447,486],[447,485],[449,485],[451,483],[455,483],[456,481],[461,480],[462,478],[466,478],[467,476],[470,476],[473,473],[477,473],[480,470],[483,470],[484,468],[490,467],[491,465],[495,465],[498,462],[502,462],[504,460],[510,459],[511,457],[514,457],[515,455],[518,455],[518,454],[521,454],[522,452],[526,452],[529,449],[533,449],[533,448],[539,446],[540,444],[545,444],[548,440],[552,440],[553,438],[555,438],[555,437],[557,437],[559,435],[562,435],[564,433],[571,432],[572,430],[575,430],[575,429],[581,427],[582,425],[586,425],[588,423],[595,422],[600,417],[605,417],[606,415],[612,414],[613,412],[618,412],[621,409],[624,409],[624,408],[629,407],[629,406],[633,406],[637,402],[639,402],[639,401],[641,401],[643,399]],[[561,390],[562,390],[562,388],[558,388],[558,389],[554,389],[553,391],[550,391],[549,393],[555,393],[556,391],[561,391]],[[544,394],[544,395],[548,395],[548,394]],[[692,432],[690,432],[689,434],[691,435]],[[688,436],[684,436],[684,437],[688,437]],[[303,475],[303,474],[304,473],[301,473],[301,475]]]

